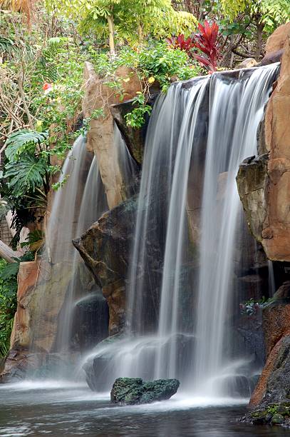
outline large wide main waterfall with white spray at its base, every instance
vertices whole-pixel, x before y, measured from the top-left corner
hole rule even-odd
[[[227,336],[228,315],[239,311],[238,304],[233,308],[233,273],[239,276],[244,256],[236,256],[234,241],[253,242],[243,233],[235,177],[242,160],[257,154],[257,128],[277,69],[172,84],[155,102],[128,274],[126,330],[86,357],[96,369],[97,389],[110,388],[120,376],[177,377],[198,396],[239,394],[227,380],[247,373]]]

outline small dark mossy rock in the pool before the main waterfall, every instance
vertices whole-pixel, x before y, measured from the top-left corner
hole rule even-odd
[[[120,405],[166,401],[177,392],[179,386],[177,379],[143,382],[141,378],[118,378],[110,392],[110,400]]]

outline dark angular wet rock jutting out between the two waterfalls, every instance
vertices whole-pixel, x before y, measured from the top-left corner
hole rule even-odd
[[[81,238],[73,241],[108,301],[109,333],[125,323],[125,279],[137,201],[125,201],[105,213]]]

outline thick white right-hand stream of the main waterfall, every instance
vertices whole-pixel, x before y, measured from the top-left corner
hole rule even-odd
[[[235,178],[239,164],[257,154],[257,129],[276,69],[242,73],[234,83],[214,75],[210,84],[194,358],[195,391],[207,396],[231,394],[224,381],[237,372],[226,351],[235,238],[243,214]],[[219,201],[221,177],[224,192]]]

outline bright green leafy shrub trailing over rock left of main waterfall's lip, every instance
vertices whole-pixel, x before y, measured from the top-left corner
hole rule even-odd
[[[143,92],[138,93],[135,97],[134,109],[126,115],[128,126],[134,128],[140,128],[144,124],[145,116],[151,112],[147,100],[152,84],[157,84],[163,92],[166,92],[172,81],[191,79],[201,74],[197,63],[190,59],[185,51],[172,49],[166,43],[153,43],[151,41],[139,51],[127,46],[113,58],[108,54],[96,54],[93,51],[90,51],[90,55],[93,58],[95,71],[103,77],[103,83],[115,89],[115,93],[120,95],[120,99],[125,96],[122,82],[130,81],[130,74],[127,78],[120,79],[116,76],[119,66],[129,67],[143,81]]]

